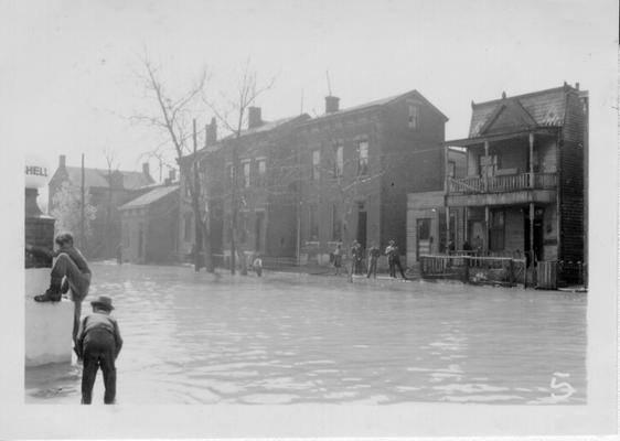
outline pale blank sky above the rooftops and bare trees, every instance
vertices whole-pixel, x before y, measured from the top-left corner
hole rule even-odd
[[[206,66],[214,100],[233,94],[249,57],[259,80],[276,78],[257,103],[266,120],[298,115],[302,94],[303,110],[321,114],[325,71],[341,108],[419,90],[450,118],[447,139],[468,135],[471,100],[503,90],[579,82],[595,107],[613,105],[613,1],[4,3],[0,117],[11,143],[53,170],[58,154],[78,165],[82,152],[87,166],[105,168],[105,148],[122,170],[139,170],[140,154],[162,141],[128,119],[152,108],[137,78],[145,53],[173,92]]]

